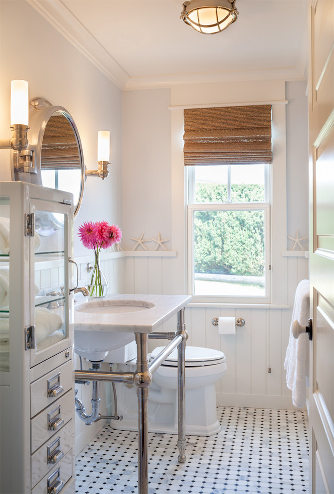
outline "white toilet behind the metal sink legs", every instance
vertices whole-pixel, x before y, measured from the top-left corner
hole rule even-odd
[[[119,372],[136,370],[136,343],[126,349],[109,352],[105,362],[117,363]],[[153,360],[164,347],[149,354]],[[125,361],[126,357],[132,360]],[[220,431],[217,420],[215,383],[226,372],[226,358],[219,350],[185,347],[185,433],[194,436],[211,436]],[[115,383],[117,413],[120,420],[111,420],[110,427],[119,430],[138,429],[137,393],[134,385]],[[132,388],[132,389],[131,389]],[[149,431],[177,434],[177,349],[154,372],[149,392]]]

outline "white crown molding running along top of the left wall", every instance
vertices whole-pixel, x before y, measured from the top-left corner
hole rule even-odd
[[[26,1],[111,82],[125,88],[129,75],[61,0]]]

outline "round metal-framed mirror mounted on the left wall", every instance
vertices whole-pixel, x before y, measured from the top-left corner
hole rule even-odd
[[[71,192],[75,217],[83,196],[85,165],[73,118],[65,108],[35,98],[30,101],[28,140],[34,172],[17,172],[13,167],[13,180]]]

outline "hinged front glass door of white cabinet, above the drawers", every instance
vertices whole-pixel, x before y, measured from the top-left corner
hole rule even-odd
[[[30,365],[70,346],[69,256],[70,206],[30,201],[34,235],[30,239],[30,324],[35,326],[35,350]],[[32,316],[32,317],[31,317]]]

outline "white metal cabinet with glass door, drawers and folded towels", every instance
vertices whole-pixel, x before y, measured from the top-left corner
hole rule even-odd
[[[0,493],[74,493],[72,194],[0,182]]]

